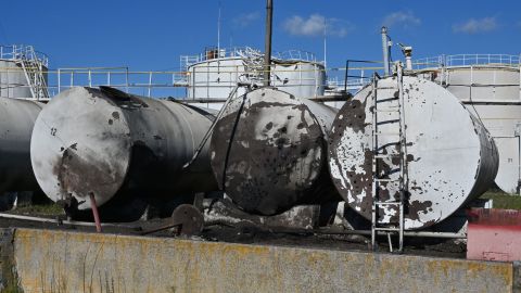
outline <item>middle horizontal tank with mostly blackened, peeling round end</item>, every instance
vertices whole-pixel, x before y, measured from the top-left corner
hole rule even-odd
[[[232,100],[211,139],[217,183],[242,209],[274,215],[332,187],[328,129],[336,111],[274,88]]]

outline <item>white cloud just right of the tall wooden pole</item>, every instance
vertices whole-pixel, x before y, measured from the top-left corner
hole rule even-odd
[[[283,29],[293,36],[316,37],[328,36],[345,37],[352,29],[353,25],[348,22],[338,18],[327,18],[320,14],[312,14],[308,18],[293,15],[285,20]]]

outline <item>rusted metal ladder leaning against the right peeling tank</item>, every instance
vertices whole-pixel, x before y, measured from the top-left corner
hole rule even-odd
[[[404,205],[405,196],[407,192],[407,150],[406,150],[406,136],[405,136],[405,119],[404,119],[404,89],[403,89],[403,66],[401,63],[396,63],[396,81],[397,81],[397,97],[384,97],[379,99],[379,90],[390,90],[396,89],[396,87],[379,87],[380,77],[374,74],[372,79],[372,101],[373,101],[373,111],[372,111],[372,217],[371,217],[371,244],[372,250],[378,250],[377,237],[379,232],[383,232],[387,235],[390,251],[393,252],[393,243],[391,235],[398,235],[398,249],[396,252],[401,253],[404,249]],[[397,105],[387,106],[385,109],[379,109],[379,103],[396,101]],[[392,120],[393,124],[398,123],[398,132],[383,133],[380,132],[379,125],[389,124],[389,120],[379,120],[379,113],[396,113],[398,118],[397,120]],[[397,137],[397,141],[391,144],[395,144],[398,148],[397,153],[384,153],[382,150],[384,145],[379,144],[379,137]],[[389,143],[387,143],[389,145]],[[399,177],[397,179],[382,178],[381,170],[379,168],[380,160],[390,158],[391,156],[399,157]],[[398,182],[399,189],[399,199],[390,199],[382,201],[380,192],[382,190],[382,183]],[[397,222],[382,222],[379,217],[379,211],[382,206],[394,207],[398,211],[398,220]]]

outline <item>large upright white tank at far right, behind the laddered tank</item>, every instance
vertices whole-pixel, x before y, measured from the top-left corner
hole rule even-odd
[[[518,55],[461,54],[436,58],[427,76],[460,99],[494,137],[499,152],[496,184],[520,193],[521,84]],[[428,66],[428,67],[432,67]]]

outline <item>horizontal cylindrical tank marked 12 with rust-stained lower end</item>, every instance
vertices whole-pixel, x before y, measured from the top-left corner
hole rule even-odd
[[[207,145],[187,168],[214,119],[207,111],[100,87],[61,92],[36,120],[31,162],[53,201],[89,209],[116,195],[216,189]],[[120,198],[119,196],[119,198]]]

